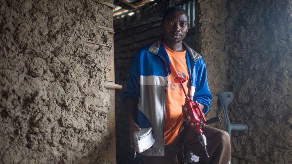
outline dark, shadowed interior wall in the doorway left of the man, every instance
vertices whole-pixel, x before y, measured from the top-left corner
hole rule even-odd
[[[115,92],[117,164],[142,163],[140,154],[133,158],[134,149],[130,146],[128,116],[122,105],[122,93],[127,89],[131,60],[136,51],[163,36],[160,21],[164,13],[162,9],[166,7],[165,3],[157,3],[155,7],[144,8],[131,17],[114,19],[115,82],[123,86]]]

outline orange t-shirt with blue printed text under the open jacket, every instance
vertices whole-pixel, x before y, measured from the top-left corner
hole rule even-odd
[[[164,141],[168,145],[177,137],[180,126],[183,124],[183,113],[181,105],[184,105],[186,99],[180,84],[174,82],[174,79],[182,76],[187,81],[183,83],[186,92],[188,92],[189,69],[187,67],[186,51],[176,52],[168,48],[164,42],[162,44],[170,60],[171,73],[168,76],[166,89],[166,113],[164,127]]]

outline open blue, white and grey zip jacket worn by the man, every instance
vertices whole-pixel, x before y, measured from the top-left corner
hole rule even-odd
[[[142,47],[135,54],[130,70],[127,90],[123,92],[122,103],[125,98],[135,98],[138,103],[137,124],[141,128],[152,127],[154,145],[141,154],[147,156],[164,156],[164,123],[165,102],[168,76],[170,75],[170,61],[162,39]],[[206,64],[200,54],[187,48],[187,66],[190,72],[189,95],[193,101],[204,104],[204,113],[210,109],[211,92],[207,83]],[[182,102],[183,105],[183,102]]]

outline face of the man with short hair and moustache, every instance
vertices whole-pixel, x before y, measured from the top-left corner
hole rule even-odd
[[[189,30],[187,14],[182,11],[170,11],[161,21],[161,29],[164,32],[164,42],[180,43]]]

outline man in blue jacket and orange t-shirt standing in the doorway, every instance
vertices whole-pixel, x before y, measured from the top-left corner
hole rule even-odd
[[[182,42],[189,29],[188,14],[180,7],[168,8],[161,21],[164,38],[139,49],[133,58],[127,91],[123,93],[133,134],[152,127],[154,145],[141,153],[144,164],[177,164],[177,152],[183,146],[200,156],[202,163],[227,164],[231,159],[227,132],[203,126],[207,138],[205,148],[198,142],[190,117],[183,108],[185,95],[174,78],[182,76],[190,98],[198,101],[204,113],[212,96],[207,83],[206,65],[202,56]]]

